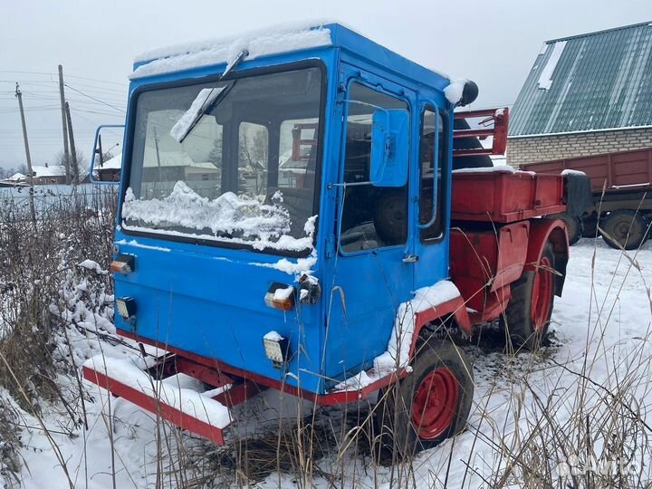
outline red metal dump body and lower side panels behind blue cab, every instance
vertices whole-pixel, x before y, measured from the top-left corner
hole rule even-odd
[[[494,168],[453,173],[450,274],[472,323],[501,315],[512,296],[510,284],[536,263],[545,241],[566,253],[565,233],[550,235],[551,219],[532,219],[565,209],[561,175]]]

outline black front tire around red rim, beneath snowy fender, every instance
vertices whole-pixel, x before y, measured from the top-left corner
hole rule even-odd
[[[423,393],[420,388],[425,388],[426,384],[427,392],[434,394],[436,382],[433,382],[433,376],[446,371],[446,375],[452,374],[450,379],[454,379],[456,386],[455,400],[452,401],[455,408],[448,411],[450,422],[448,424],[444,420],[447,427],[440,433],[435,430],[431,436],[422,437],[419,430],[426,427],[415,426],[412,412],[415,399],[419,392]],[[424,341],[412,363],[412,373],[398,384],[379,392],[376,433],[379,435],[377,439],[381,443],[379,452],[382,457],[391,457],[392,461],[407,459],[462,432],[471,412],[473,394],[473,369],[465,352],[447,340],[430,338]],[[442,410],[444,416],[446,412]]]

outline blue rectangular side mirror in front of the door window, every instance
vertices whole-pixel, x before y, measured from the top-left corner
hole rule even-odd
[[[408,110],[374,112],[369,179],[375,187],[403,187],[408,182],[408,129]]]

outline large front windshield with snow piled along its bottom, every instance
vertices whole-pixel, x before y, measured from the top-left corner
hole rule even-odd
[[[254,249],[312,246],[318,68],[144,91],[137,103],[125,229]]]

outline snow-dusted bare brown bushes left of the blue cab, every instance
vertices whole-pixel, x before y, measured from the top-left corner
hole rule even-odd
[[[65,349],[67,328],[84,319],[82,307],[108,314],[97,298],[112,293],[108,274],[83,277],[91,273],[75,264],[94,257],[107,268],[115,192],[46,191],[36,202],[33,219],[24,199],[0,199],[0,389],[30,416],[40,418],[45,408],[60,411],[72,433],[82,422],[85,394],[75,361],[80,359]],[[62,314],[66,306],[76,310]],[[61,382],[62,376],[70,380]],[[11,462],[6,469],[15,473],[18,461],[9,454],[20,444],[11,427],[23,426],[24,419],[18,409],[0,404],[6,440],[0,451]]]

